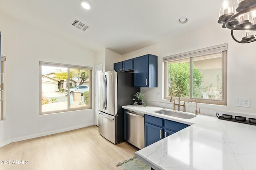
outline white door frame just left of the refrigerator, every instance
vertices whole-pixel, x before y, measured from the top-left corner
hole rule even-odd
[[[98,73],[102,72],[102,64],[94,66],[94,125],[99,125],[98,110],[99,110],[99,87],[98,87]]]

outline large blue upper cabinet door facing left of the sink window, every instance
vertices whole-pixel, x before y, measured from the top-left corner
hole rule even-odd
[[[148,55],[134,59],[134,87],[149,87]]]

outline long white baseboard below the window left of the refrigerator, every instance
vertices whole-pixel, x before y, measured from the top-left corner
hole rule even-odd
[[[88,126],[92,126],[92,125],[94,125],[94,123],[89,123],[89,124],[86,124],[86,125],[80,125],[80,126],[75,126],[75,127],[69,127],[69,128],[65,128],[65,129],[59,129],[59,130],[56,130],[56,131],[50,131],[50,132],[46,132],[46,133],[40,133],[40,134],[29,135],[29,136],[24,136],[24,137],[17,137],[17,138],[13,138],[11,140],[11,142],[24,141],[24,140],[27,140],[27,139],[33,139],[33,138],[36,138],[36,137],[42,137],[42,136],[52,135],[52,134],[56,134],[56,133],[71,131],[71,130],[74,130],[74,129],[80,129],[80,128],[88,127]],[[2,145],[2,143],[1,143],[1,145]]]

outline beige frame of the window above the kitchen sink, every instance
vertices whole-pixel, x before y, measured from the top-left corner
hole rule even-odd
[[[217,49],[217,50],[216,50]],[[192,64],[193,57],[198,57],[202,55],[208,55],[212,53],[220,53],[222,52],[222,100],[216,99],[202,99],[202,98],[192,98]],[[213,47],[208,47],[204,49],[199,49],[195,51],[190,51],[178,55],[168,56],[163,58],[163,66],[164,66],[164,99],[170,100],[171,97],[168,96],[168,61],[174,61],[178,59],[190,58],[190,98],[180,98],[181,101],[191,102],[191,100],[195,99],[198,103],[204,104],[215,104],[215,105],[224,105],[227,106],[227,44],[217,45]],[[177,97],[173,97],[173,100],[178,100]]]

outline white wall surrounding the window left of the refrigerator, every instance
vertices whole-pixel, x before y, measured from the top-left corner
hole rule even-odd
[[[94,125],[94,111],[39,115],[39,61],[94,66],[95,53],[0,14],[5,55],[5,115],[1,146]],[[92,79],[92,87],[94,80]],[[92,95],[92,101],[94,101]],[[94,106],[92,105],[92,108]],[[63,119],[66,118],[66,122]]]

